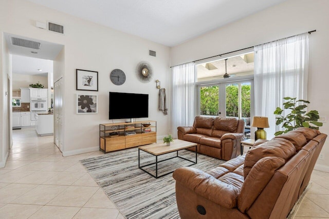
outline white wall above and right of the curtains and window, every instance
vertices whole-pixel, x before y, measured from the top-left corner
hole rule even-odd
[[[327,62],[329,59],[329,1],[288,0],[171,49],[172,65],[239,50],[316,29],[309,37],[308,110],[329,120]],[[273,109],[274,111],[274,109]],[[329,124],[320,131],[329,134]],[[317,169],[329,172],[329,141]]]

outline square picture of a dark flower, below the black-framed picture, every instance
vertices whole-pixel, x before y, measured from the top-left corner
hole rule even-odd
[[[77,94],[77,114],[98,113],[97,95]]]

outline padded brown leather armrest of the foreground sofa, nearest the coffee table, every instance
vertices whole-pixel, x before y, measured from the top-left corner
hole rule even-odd
[[[237,206],[240,190],[236,187],[217,180],[215,177],[192,167],[181,167],[174,171],[176,183],[207,198],[209,201],[231,209]]]

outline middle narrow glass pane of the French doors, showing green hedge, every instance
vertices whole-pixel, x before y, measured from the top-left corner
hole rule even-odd
[[[237,84],[226,85],[226,116],[239,117],[239,88]]]

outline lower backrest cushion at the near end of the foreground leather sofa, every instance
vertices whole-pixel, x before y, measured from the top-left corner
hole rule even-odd
[[[237,207],[241,212],[249,209],[277,169],[285,164],[283,158],[276,156],[263,157],[251,169],[245,178],[241,193],[237,198]]]

